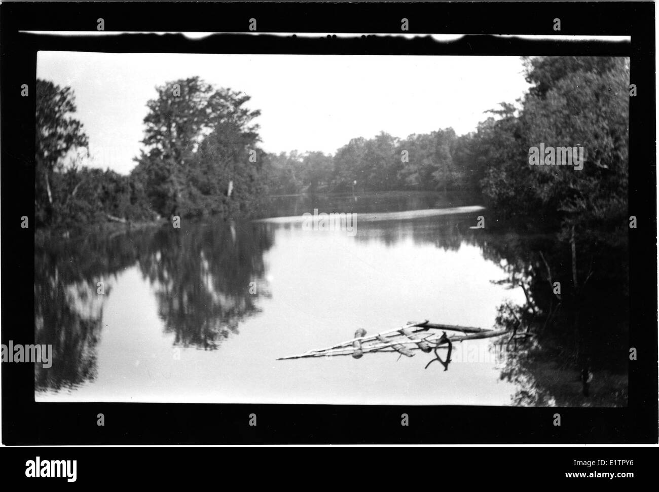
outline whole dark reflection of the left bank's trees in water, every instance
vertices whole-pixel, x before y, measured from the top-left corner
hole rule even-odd
[[[154,288],[175,344],[218,348],[269,296],[263,253],[267,229],[246,223],[165,226],[77,240],[35,242],[35,341],[53,345],[53,366],[36,366],[36,389],[76,387],[96,377],[103,306],[117,274],[138,265]],[[102,294],[100,294],[102,292]]]

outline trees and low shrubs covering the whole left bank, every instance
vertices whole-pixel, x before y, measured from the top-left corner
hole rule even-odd
[[[35,212],[38,225],[148,221],[245,209],[265,194],[259,111],[250,97],[197,77],[156,88],[144,149],[130,175],[80,167],[88,138],[70,88],[38,80]]]

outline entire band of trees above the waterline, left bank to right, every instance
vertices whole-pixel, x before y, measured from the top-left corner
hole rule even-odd
[[[528,94],[502,102],[475,132],[452,128],[395,138],[353,138],[334,155],[268,154],[260,111],[241,92],[198,77],[156,88],[144,149],[129,176],[80,168],[88,140],[70,88],[38,80],[36,219],[40,225],[132,221],[248,210],[268,194],[476,190],[507,215],[563,226],[619,220],[627,203],[629,59],[525,58]],[[484,85],[483,90],[487,90]],[[530,166],[529,148],[583,146],[585,165]],[[117,142],[121,145],[121,142]]]

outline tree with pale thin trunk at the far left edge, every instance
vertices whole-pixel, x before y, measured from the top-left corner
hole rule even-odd
[[[71,117],[75,112],[71,88],[37,79],[34,196],[36,219],[40,224],[57,221],[58,207],[61,200],[65,200],[59,196],[57,188],[53,189],[53,174],[63,170],[65,157],[72,157],[72,151],[88,146],[82,123]]]

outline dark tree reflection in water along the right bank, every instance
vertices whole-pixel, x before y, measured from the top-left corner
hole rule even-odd
[[[475,215],[440,219],[358,223],[356,239],[395,244],[412,238],[456,251],[477,246],[484,258],[505,273],[493,283],[519,287],[522,306],[498,307],[496,325],[529,331],[532,337],[493,339],[511,342],[501,379],[519,387],[513,404],[524,406],[626,406],[629,283],[625,231],[594,230],[577,244],[577,275],[573,288],[569,242],[556,234],[515,224],[509,229],[470,229]],[[514,228],[514,229],[513,229]],[[555,294],[556,282],[561,290]],[[487,327],[485,327],[487,328]]]

